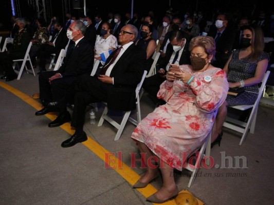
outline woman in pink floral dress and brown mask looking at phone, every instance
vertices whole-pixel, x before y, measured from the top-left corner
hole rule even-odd
[[[157,94],[167,104],[145,117],[132,134],[145,153],[146,172],[134,188],[148,185],[160,169],[162,188],[147,200],[162,203],[178,194],[173,170],[182,170],[188,156],[203,145],[211,131],[218,107],[227,96],[226,73],[210,64],[215,54],[212,37],[192,38],[191,65],[172,68]],[[155,157],[158,165],[151,162]]]

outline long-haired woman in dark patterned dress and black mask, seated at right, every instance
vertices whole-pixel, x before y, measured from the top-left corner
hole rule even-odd
[[[227,95],[226,101],[218,109],[213,127],[213,144],[222,139],[222,127],[228,106],[252,105],[258,97],[258,84],[262,81],[269,55],[264,51],[264,34],[259,26],[247,26],[243,30],[241,49],[233,50],[224,71],[227,73],[229,88],[244,88],[240,95]]]

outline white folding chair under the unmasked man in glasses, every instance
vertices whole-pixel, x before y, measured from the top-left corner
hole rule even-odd
[[[130,117],[131,111],[126,111],[125,114],[123,115],[123,119],[121,121],[121,124],[118,124],[115,120],[113,120],[111,117],[109,117],[107,115],[108,109],[107,109],[107,105],[105,106],[105,109],[104,109],[104,111],[102,113],[102,116],[101,116],[101,118],[100,118],[100,120],[98,122],[98,127],[102,126],[104,120],[106,120],[110,124],[112,124],[115,128],[117,128],[118,131],[116,133],[114,141],[117,141],[120,138],[127,120],[129,120],[130,122],[132,122],[136,126],[141,121],[139,91],[140,91],[140,89],[142,87],[142,83],[143,83],[143,80],[145,78],[145,75],[147,75],[147,72],[148,71],[144,71],[142,79],[141,79],[140,83],[137,85],[136,90],[135,90],[135,93],[136,93],[136,113],[137,113],[137,120],[135,120],[132,117]]]

